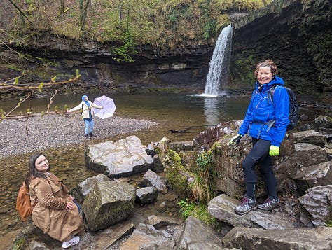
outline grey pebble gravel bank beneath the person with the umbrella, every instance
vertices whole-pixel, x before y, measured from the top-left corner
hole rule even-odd
[[[95,118],[94,139],[108,138],[144,130],[158,123],[113,116],[104,120]],[[86,144],[81,115],[48,115],[43,117],[3,120],[0,123],[0,158],[42,151],[71,144]]]

